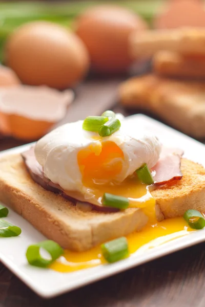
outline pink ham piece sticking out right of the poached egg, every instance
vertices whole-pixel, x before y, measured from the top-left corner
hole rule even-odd
[[[182,178],[180,170],[182,155],[181,149],[162,147],[159,160],[151,169],[155,185],[167,184]]]

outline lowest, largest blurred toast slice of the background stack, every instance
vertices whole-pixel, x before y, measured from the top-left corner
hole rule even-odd
[[[126,107],[149,110],[195,138],[205,137],[205,82],[179,81],[156,75],[134,77],[119,86]]]

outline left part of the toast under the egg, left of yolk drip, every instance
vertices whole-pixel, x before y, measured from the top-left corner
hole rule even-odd
[[[62,196],[36,184],[20,154],[0,158],[0,201],[64,248],[88,250],[147,224],[138,208],[104,213],[84,212]]]

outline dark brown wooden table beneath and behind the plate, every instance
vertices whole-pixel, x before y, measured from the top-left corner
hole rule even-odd
[[[88,81],[62,123],[114,108],[119,80]],[[125,113],[125,111],[123,111]],[[127,114],[126,114],[127,115]],[[0,150],[21,145],[0,140]],[[205,201],[205,200],[204,200]],[[0,264],[0,307],[204,307],[205,243],[162,257],[60,297],[44,300]]]

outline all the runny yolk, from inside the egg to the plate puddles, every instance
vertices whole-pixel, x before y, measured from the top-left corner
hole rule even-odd
[[[78,153],[78,165],[83,177],[83,184],[96,200],[105,192],[129,198],[129,206],[142,208],[149,217],[149,222],[141,231],[127,236],[130,254],[146,250],[170,240],[189,234],[192,231],[182,217],[170,218],[157,222],[155,217],[155,200],[148,187],[141,184],[137,176],[127,178],[122,183],[110,183],[122,169],[124,153],[114,142],[96,142]],[[86,252],[65,250],[50,268],[59,272],[73,272],[106,263],[100,246]]]

